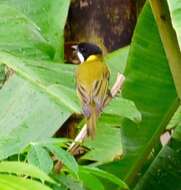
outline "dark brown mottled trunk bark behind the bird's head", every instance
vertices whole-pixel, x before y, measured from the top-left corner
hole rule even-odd
[[[92,42],[111,52],[130,43],[135,23],[133,0],[73,0],[65,41]]]

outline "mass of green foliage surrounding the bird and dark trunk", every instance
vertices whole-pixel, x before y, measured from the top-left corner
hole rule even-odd
[[[76,156],[72,139],[54,136],[81,113],[76,65],[64,61],[70,3],[0,1],[0,189],[180,189],[180,0],[146,1],[130,46],[105,56],[110,86],[118,72],[125,84]]]

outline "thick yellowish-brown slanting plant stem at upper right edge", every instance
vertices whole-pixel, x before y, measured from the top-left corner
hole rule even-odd
[[[181,99],[181,52],[166,0],[149,0],[179,99]]]

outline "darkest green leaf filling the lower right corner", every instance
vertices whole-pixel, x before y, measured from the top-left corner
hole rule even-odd
[[[135,190],[181,189],[181,126],[165,145],[135,187]]]

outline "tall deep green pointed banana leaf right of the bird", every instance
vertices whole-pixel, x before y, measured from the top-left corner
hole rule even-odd
[[[137,22],[125,75],[123,96],[134,100],[142,113],[142,122],[136,125],[123,121],[124,155],[102,167],[132,184],[178,106],[168,61],[148,3]]]

